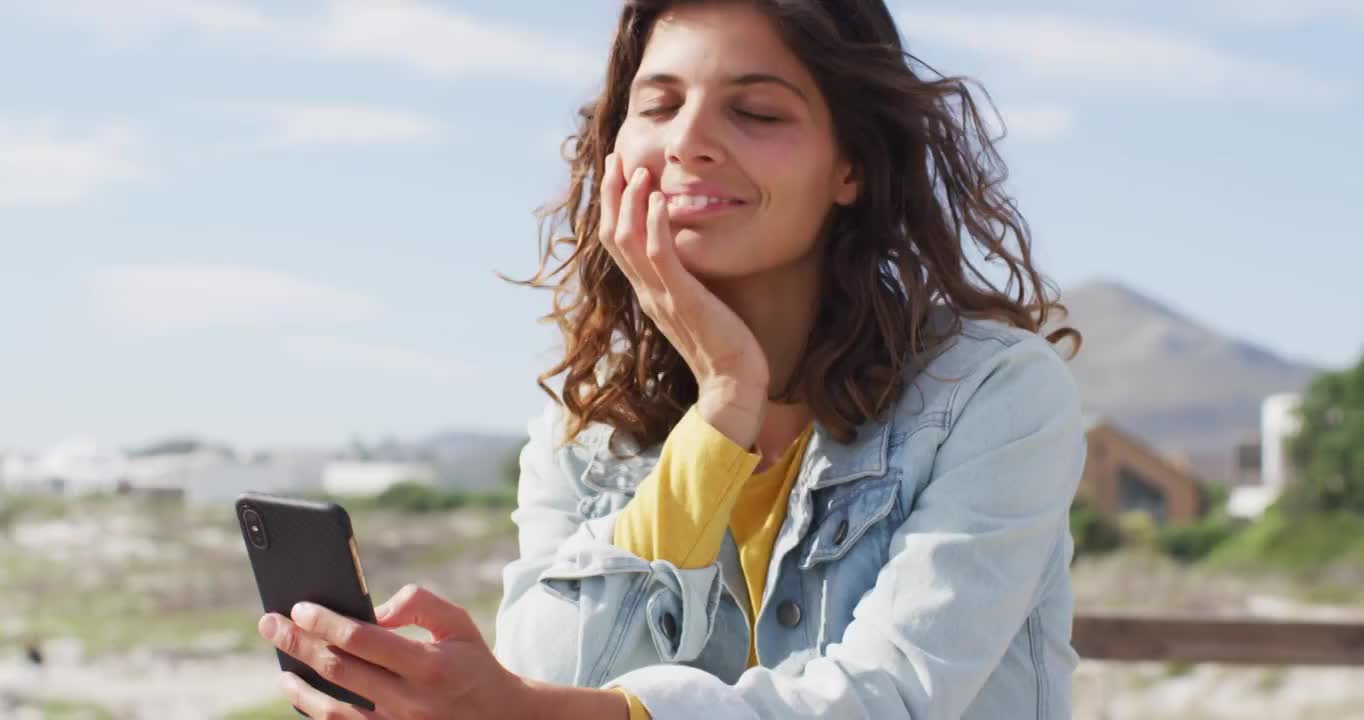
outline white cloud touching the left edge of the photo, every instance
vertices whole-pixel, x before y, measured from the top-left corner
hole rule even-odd
[[[71,205],[110,183],[145,177],[138,145],[123,124],[79,135],[50,121],[0,119],[0,207]]]

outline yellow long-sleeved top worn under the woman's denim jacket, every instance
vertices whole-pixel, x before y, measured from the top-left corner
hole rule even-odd
[[[647,560],[696,569],[715,562],[728,526],[749,590],[749,627],[756,627],[772,543],[786,520],[786,498],[813,428],[813,423],[806,425],[776,462],[754,475],[761,455],[735,445],[692,406],[664,440],[653,472],[617,518],[612,543]],[[753,665],[757,642],[750,631]],[[619,690],[629,700],[630,720],[648,720],[640,700]]]

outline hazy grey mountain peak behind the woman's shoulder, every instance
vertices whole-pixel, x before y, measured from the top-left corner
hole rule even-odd
[[[1207,479],[1225,479],[1236,443],[1258,435],[1266,395],[1303,390],[1318,372],[1120,284],[1076,286],[1061,301],[1084,335],[1071,368],[1086,412]]]

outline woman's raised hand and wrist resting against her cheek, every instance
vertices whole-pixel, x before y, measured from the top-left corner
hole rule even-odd
[[[648,168],[625,177],[618,153],[602,175],[597,239],[629,278],[697,380],[697,410],[735,443],[752,447],[767,409],[769,368],[757,337],[723,300],[682,266],[667,198]]]

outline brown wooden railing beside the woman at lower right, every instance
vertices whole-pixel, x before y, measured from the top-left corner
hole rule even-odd
[[[1071,642],[1093,660],[1364,665],[1364,623],[1086,614]]]

